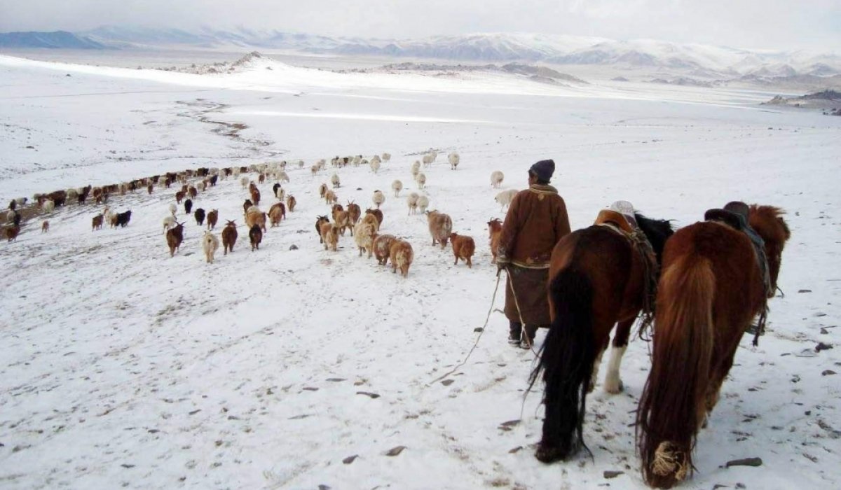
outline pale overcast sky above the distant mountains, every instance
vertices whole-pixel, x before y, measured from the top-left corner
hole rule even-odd
[[[530,32],[841,53],[841,0],[0,0],[0,31],[238,25],[418,38]]]

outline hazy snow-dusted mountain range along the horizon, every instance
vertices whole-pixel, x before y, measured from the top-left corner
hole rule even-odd
[[[0,34],[0,47],[275,49],[458,61],[532,61],[684,71],[687,76],[832,76],[841,55],[803,50],[743,50],[658,40],[609,40],[553,34],[464,34],[420,40],[334,38],[278,30],[147,29],[105,26],[80,33]]]

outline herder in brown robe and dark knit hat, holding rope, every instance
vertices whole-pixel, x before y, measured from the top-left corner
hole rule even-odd
[[[529,188],[517,192],[511,201],[497,249],[496,264],[508,271],[508,342],[523,349],[532,346],[538,327],[551,323],[546,289],[549,260],[558,240],[569,234],[567,206],[558,190],[549,185],[554,171],[551,160],[538,161],[529,169]]]

